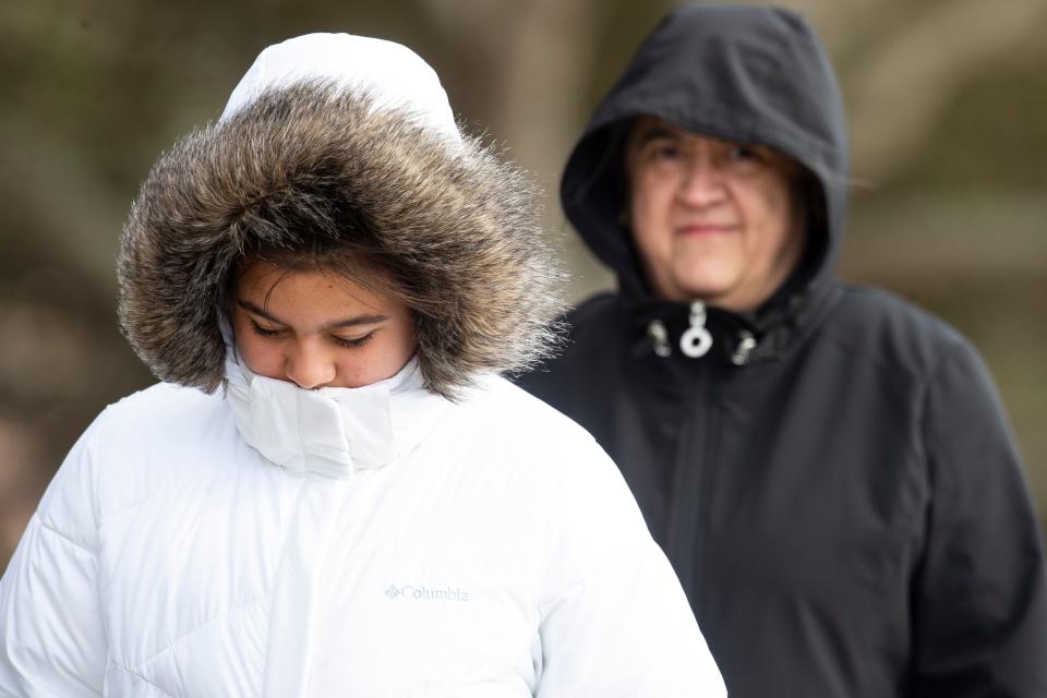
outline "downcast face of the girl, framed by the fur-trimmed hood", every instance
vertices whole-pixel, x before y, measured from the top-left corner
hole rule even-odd
[[[334,272],[255,262],[240,275],[232,305],[248,368],[306,389],[388,378],[417,346],[407,305]]]

